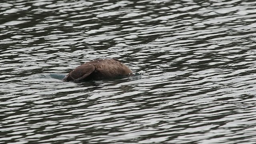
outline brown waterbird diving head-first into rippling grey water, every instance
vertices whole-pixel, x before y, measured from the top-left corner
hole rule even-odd
[[[72,70],[63,78],[63,81],[80,82],[86,80],[100,80],[114,78],[132,73],[130,68],[117,59],[99,59],[86,62]]]

